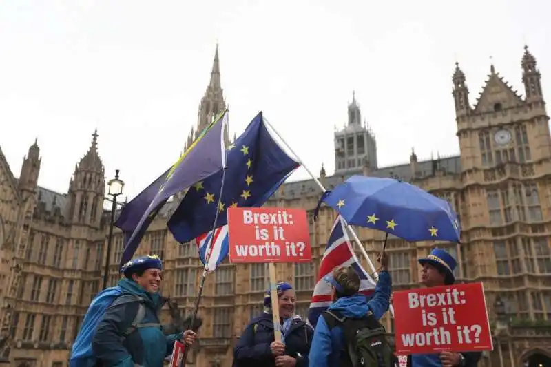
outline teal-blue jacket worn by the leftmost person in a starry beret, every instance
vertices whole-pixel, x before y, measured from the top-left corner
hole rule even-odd
[[[145,300],[145,317],[142,324],[159,324],[137,328],[123,338],[123,332],[132,325],[138,313],[139,302],[123,302],[107,308],[105,315],[96,328],[92,341],[92,350],[103,367],[162,367],[167,355],[172,353],[175,340],[181,335],[165,335],[160,327],[158,311],[160,296],[146,292],[138,283],[123,279],[118,282],[123,295],[132,300],[130,294],[138,295]],[[118,300],[118,299],[117,299]]]

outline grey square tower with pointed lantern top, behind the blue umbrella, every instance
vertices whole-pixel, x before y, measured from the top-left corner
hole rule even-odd
[[[335,174],[362,174],[364,162],[377,169],[377,143],[367,123],[362,126],[362,112],[352,93],[348,107],[348,123],[335,132]]]

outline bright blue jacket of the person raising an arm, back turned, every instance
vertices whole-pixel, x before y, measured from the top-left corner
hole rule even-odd
[[[342,297],[331,304],[329,310],[339,311],[345,317],[362,317],[371,311],[376,319],[380,319],[390,306],[391,287],[391,275],[387,271],[381,271],[371,300],[366,302],[366,297],[360,294]],[[309,366],[338,367],[344,348],[342,328],[335,326],[330,330],[323,315],[320,315],[310,348]]]

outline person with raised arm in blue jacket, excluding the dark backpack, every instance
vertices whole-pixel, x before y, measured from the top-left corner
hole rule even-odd
[[[390,306],[392,281],[386,270],[388,258],[384,253],[380,262],[379,280],[371,300],[358,293],[360,277],[351,266],[337,269],[333,276],[326,277],[325,280],[333,286],[334,302],[329,306],[329,311],[353,318],[364,317],[371,311],[376,319],[381,319]],[[329,328],[323,315],[320,315],[310,348],[309,367],[339,367],[345,349],[342,327]]]

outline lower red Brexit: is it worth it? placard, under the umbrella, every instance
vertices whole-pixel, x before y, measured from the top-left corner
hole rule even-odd
[[[481,283],[393,292],[396,354],[492,350]]]

